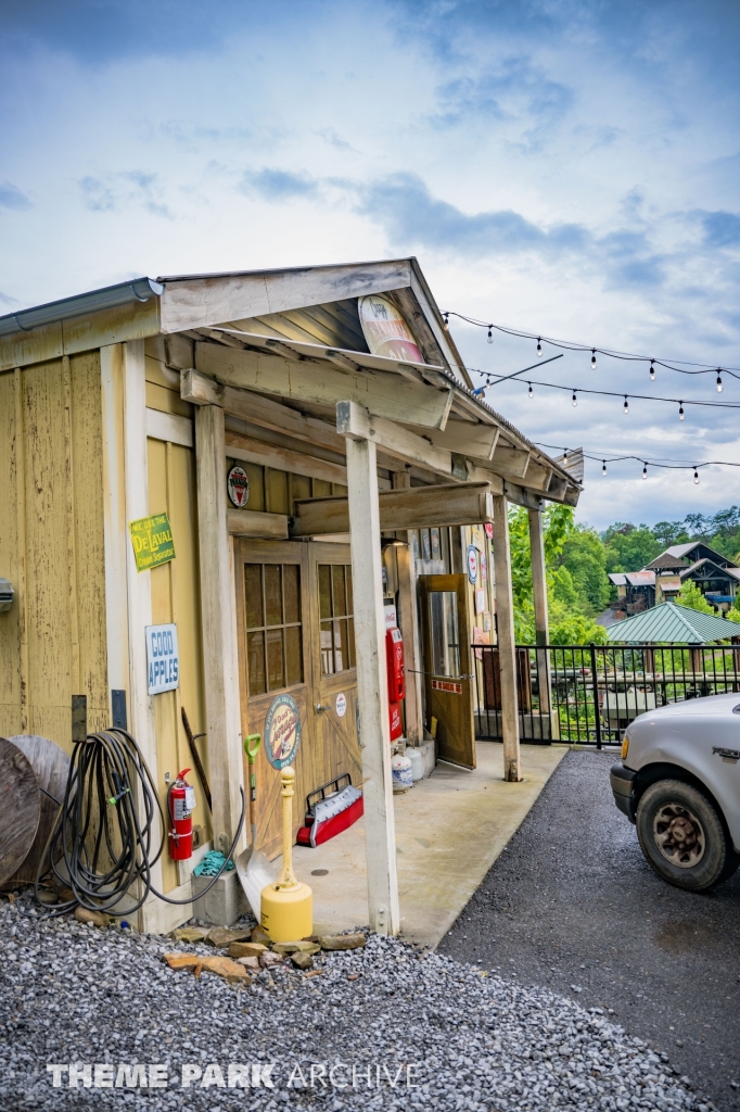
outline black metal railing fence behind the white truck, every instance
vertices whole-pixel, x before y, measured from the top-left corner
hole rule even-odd
[[[501,739],[498,648],[472,645],[476,736]],[[621,745],[639,714],[702,695],[740,692],[740,645],[520,645],[523,742]]]

